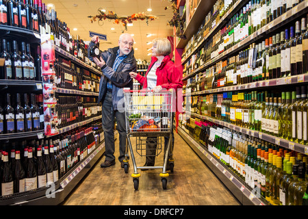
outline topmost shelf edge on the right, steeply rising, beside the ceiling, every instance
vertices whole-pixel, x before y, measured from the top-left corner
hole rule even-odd
[[[220,21],[216,24],[216,26],[211,29],[211,31],[209,31],[209,33],[207,34],[207,36],[205,36],[205,38],[203,38],[203,40],[201,40],[201,42],[198,43],[198,45],[192,50],[192,53],[190,53],[187,57],[184,57],[182,59],[182,64],[185,64],[186,62],[188,62],[188,60],[190,59],[190,57],[192,57],[192,55],[194,55],[196,53],[196,51],[200,50],[201,47],[203,47],[203,45],[209,40],[209,38],[211,38],[212,36],[214,36],[214,34],[217,33],[217,31],[223,27],[228,21],[229,19],[235,14],[235,12],[237,12],[238,10],[240,10],[240,8],[243,7],[244,4],[246,4],[248,1],[237,1],[230,9],[229,11],[224,14],[224,16],[222,16],[222,18],[220,19]]]

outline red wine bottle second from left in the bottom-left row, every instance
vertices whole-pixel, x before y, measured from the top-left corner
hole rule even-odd
[[[16,151],[15,155],[14,192],[25,192],[25,170],[21,164],[21,152]]]

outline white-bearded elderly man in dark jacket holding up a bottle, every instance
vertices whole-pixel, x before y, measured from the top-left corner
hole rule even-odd
[[[99,37],[94,36],[89,48],[99,42]],[[131,71],[136,71],[136,59],[133,56],[133,37],[122,34],[118,40],[118,47],[107,49],[101,57],[89,57],[102,70],[103,75],[99,83],[98,102],[103,103],[103,131],[105,135],[105,162],[101,167],[112,166],[116,163],[114,156],[114,118],[118,125],[119,152],[118,157],[121,167],[124,167],[126,147],[126,125],[123,101],[123,88],[133,89],[133,81],[129,76]],[[89,53],[90,54],[90,53]]]

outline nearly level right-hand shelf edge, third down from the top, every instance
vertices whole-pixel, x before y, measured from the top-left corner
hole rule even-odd
[[[271,86],[285,86],[285,85],[294,85],[296,83],[304,83],[308,81],[308,73],[302,75],[293,75],[290,77],[281,77],[277,79],[270,79],[266,81],[256,81],[252,83],[246,83],[238,86],[229,86],[223,88],[215,88],[210,90],[203,90],[197,92],[186,92],[183,96],[194,96],[200,94],[213,94],[219,92],[229,92],[229,91],[236,91],[236,90],[248,90],[248,89],[255,89],[255,88],[267,88]]]

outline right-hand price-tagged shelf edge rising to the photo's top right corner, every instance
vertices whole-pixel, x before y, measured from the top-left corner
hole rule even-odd
[[[239,42],[238,44],[235,44],[230,49],[227,49],[227,51],[224,51],[223,53],[220,53],[220,55],[216,56],[214,59],[209,60],[207,63],[203,64],[196,70],[194,70],[189,75],[185,75],[182,80],[188,79],[190,77],[193,77],[197,73],[201,72],[202,70],[205,70],[209,66],[212,66],[213,64],[216,64],[220,60],[223,60],[226,57],[229,57],[230,55],[233,55],[234,53],[237,53],[238,51],[242,50],[244,47],[248,47],[248,45],[252,44],[253,42],[256,42],[260,38],[263,38],[266,34],[269,32],[272,32],[285,23],[289,22],[291,19],[298,18],[302,16],[303,14],[308,12],[308,0],[305,0],[298,5],[296,5],[292,10],[288,10],[278,18],[274,19],[274,21],[271,21],[261,29],[255,31],[250,36],[246,37],[244,40]]]

